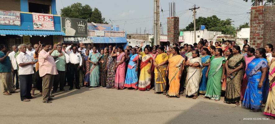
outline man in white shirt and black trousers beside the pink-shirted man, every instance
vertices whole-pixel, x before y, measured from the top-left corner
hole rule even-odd
[[[33,65],[36,62],[33,62],[32,58],[26,53],[27,46],[25,44],[20,45],[20,53],[16,57],[16,62],[19,66],[18,75],[20,78],[20,97],[21,101],[28,102],[29,99],[33,99],[30,94],[32,87],[32,75],[34,73]]]

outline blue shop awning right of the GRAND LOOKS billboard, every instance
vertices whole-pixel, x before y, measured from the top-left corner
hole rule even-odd
[[[99,43],[127,43],[125,37],[89,37],[92,43],[99,44]]]

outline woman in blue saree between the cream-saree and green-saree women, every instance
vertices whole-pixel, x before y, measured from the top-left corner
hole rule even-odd
[[[211,57],[211,53],[207,48],[203,48],[201,50],[202,56],[201,58],[201,62],[202,62],[202,77],[199,83],[199,93],[200,94],[205,94],[206,93],[206,83],[207,83],[207,76],[205,75],[207,70],[208,70],[208,66],[210,64],[210,57]]]

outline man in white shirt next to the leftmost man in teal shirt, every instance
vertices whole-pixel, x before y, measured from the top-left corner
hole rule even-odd
[[[12,81],[15,89],[19,89],[19,81],[18,81],[18,71],[17,71],[17,64],[16,64],[16,59],[15,59],[15,53],[18,52],[17,46],[13,45],[12,46],[12,52],[9,53],[9,57],[11,60],[11,67],[13,68],[13,73],[12,73]]]

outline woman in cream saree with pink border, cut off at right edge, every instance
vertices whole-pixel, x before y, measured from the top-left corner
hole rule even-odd
[[[273,50],[272,52],[272,57],[275,57],[275,51]],[[267,118],[269,119],[275,119],[275,62],[272,62],[270,64],[270,69],[269,69],[269,93],[268,93],[268,98],[267,102],[265,104],[264,108],[264,114],[268,115]]]

